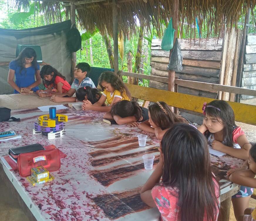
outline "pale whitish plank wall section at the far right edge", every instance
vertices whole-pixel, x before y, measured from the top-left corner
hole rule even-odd
[[[256,90],[256,35],[255,33],[247,35],[247,44],[245,46],[245,64],[242,72],[241,87]],[[256,105],[256,97],[249,96],[249,95],[242,95],[240,102]]]

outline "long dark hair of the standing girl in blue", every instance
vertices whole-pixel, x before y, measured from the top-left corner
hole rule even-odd
[[[14,60],[17,62],[17,65],[21,67],[21,71],[25,68],[25,58],[32,58],[34,57],[31,65],[33,68],[37,69],[37,61],[36,61],[36,51],[31,47],[24,48],[18,55],[18,57]]]

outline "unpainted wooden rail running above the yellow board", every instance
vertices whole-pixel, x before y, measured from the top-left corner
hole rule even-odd
[[[142,75],[137,73],[123,72],[123,71],[119,71],[118,75],[124,75],[129,77],[136,77],[136,78],[168,83],[168,77],[156,77],[156,76]],[[256,96],[256,90],[253,90],[253,89],[233,87],[233,86],[227,86],[227,85],[221,85],[221,84],[205,83],[205,82],[199,82],[199,81],[181,80],[181,79],[175,79],[174,82],[175,84],[178,84],[179,86],[182,86],[182,87],[188,87],[188,88],[193,88],[193,89],[202,90],[202,91],[209,91],[213,93],[217,93],[218,91],[224,91],[224,92],[229,92],[234,94]]]

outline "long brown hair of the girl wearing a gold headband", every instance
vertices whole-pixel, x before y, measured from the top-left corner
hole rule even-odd
[[[164,101],[159,101],[159,103],[166,110],[167,115],[157,103],[154,103],[149,106],[149,113],[152,121],[158,127],[161,127],[162,130],[171,127],[171,125],[176,122],[187,123],[187,121],[184,118],[173,113],[171,111],[171,108]]]

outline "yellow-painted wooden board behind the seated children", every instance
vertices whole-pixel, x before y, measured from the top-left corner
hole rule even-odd
[[[204,102],[211,102],[215,99],[193,96],[189,94],[181,94],[172,91],[164,91],[149,87],[142,87],[133,84],[126,84],[132,97],[146,101],[164,101],[169,106],[191,110],[202,113]],[[227,101],[235,112],[235,120],[251,125],[256,125],[256,106]]]

